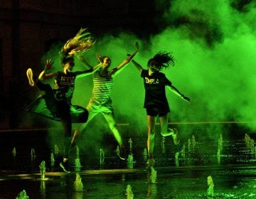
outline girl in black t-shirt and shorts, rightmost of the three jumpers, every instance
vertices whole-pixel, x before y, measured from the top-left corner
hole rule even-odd
[[[148,70],[144,70],[139,63],[132,60],[132,63],[139,70],[141,77],[144,80],[145,98],[144,108],[146,109],[146,124],[148,129],[147,150],[149,159],[146,162],[146,168],[154,166],[154,136],[156,117],[159,117],[161,135],[172,136],[174,144],[179,144],[180,138],[176,129],[168,128],[168,115],[170,112],[169,104],[166,99],[165,87],[174,92],[174,94],[181,97],[181,99],[190,101],[188,97],[179,92],[174,85],[166,78],[164,73],[160,72],[164,68],[169,68],[170,65],[174,65],[174,57],[171,53],[159,52],[154,55],[154,58],[149,59],[147,63]]]

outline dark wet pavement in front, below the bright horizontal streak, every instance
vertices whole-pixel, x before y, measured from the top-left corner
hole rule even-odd
[[[80,171],[82,190],[76,190],[76,173],[1,173],[0,198],[15,198],[26,190],[30,198],[209,198],[208,176],[212,176],[211,198],[256,198],[256,166],[159,167],[156,183],[147,183],[145,169]]]

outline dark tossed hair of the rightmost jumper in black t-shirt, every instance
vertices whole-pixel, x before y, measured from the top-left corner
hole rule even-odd
[[[169,66],[174,66],[174,56],[171,53],[166,51],[160,51],[154,58],[149,59],[147,65],[152,65],[158,70],[162,70],[163,68],[169,68]]]

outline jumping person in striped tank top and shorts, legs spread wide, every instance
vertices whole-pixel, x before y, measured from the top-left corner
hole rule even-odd
[[[132,55],[125,58],[122,63],[120,63],[116,68],[109,70],[111,65],[111,60],[107,56],[98,55],[98,59],[100,60],[101,67],[100,70],[95,72],[93,77],[93,88],[92,88],[92,97],[90,98],[89,103],[87,104],[86,109],[89,111],[89,117],[87,123],[82,124],[73,135],[72,143],[74,145],[75,139],[78,137],[78,132],[82,132],[83,129],[87,126],[90,120],[95,117],[97,114],[101,113],[103,117],[105,117],[107,124],[110,127],[110,130],[114,134],[114,138],[117,140],[119,144],[119,149],[121,154],[117,154],[119,158],[125,159],[124,157],[124,143],[122,141],[122,136],[119,133],[119,129],[117,128],[117,123],[114,119],[114,109],[112,107],[112,85],[113,78],[121,72],[124,67],[131,62],[134,56],[139,52],[139,44],[136,43],[136,50]]]

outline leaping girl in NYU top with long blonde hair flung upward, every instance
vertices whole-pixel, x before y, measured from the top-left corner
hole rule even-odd
[[[64,171],[66,171],[65,166],[67,166],[68,163],[72,123],[86,122],[88,117],[87,109],[71,104],[71,99],[75,90],[75,80],[78,77],[92,74],[100,66],[99,64],[88,70],[73,72],[75,67],[74,56],[90,50],[95,43],[95,41],[90,38],[90,33],[87,33],[85,30],[85,28],[81,28],[77,35],[68,40],[60,51],[61,63],[63,66],[62,71],[48,73],[48,70],[51,69],[53,63],[50,60],[47,60],[46,69],[41,72],[38,78],[33,77],[33,70],[31,70],[31,68],[26,72],[29,84],[31,86],[37,85],[40,90],[45,92],[46,95],[44,96],[44,100],[46,107],[53,115],[51,119],[59,119],[62,123],[65,139],[63,161],[60,162],[60,166]],[[55,80],[54,89],[52,89],[50,85],[41,82],[42,79],[47,80],[51,78]],[[31,106],[28,110],[36,112],[36,109],[36,106]]]

